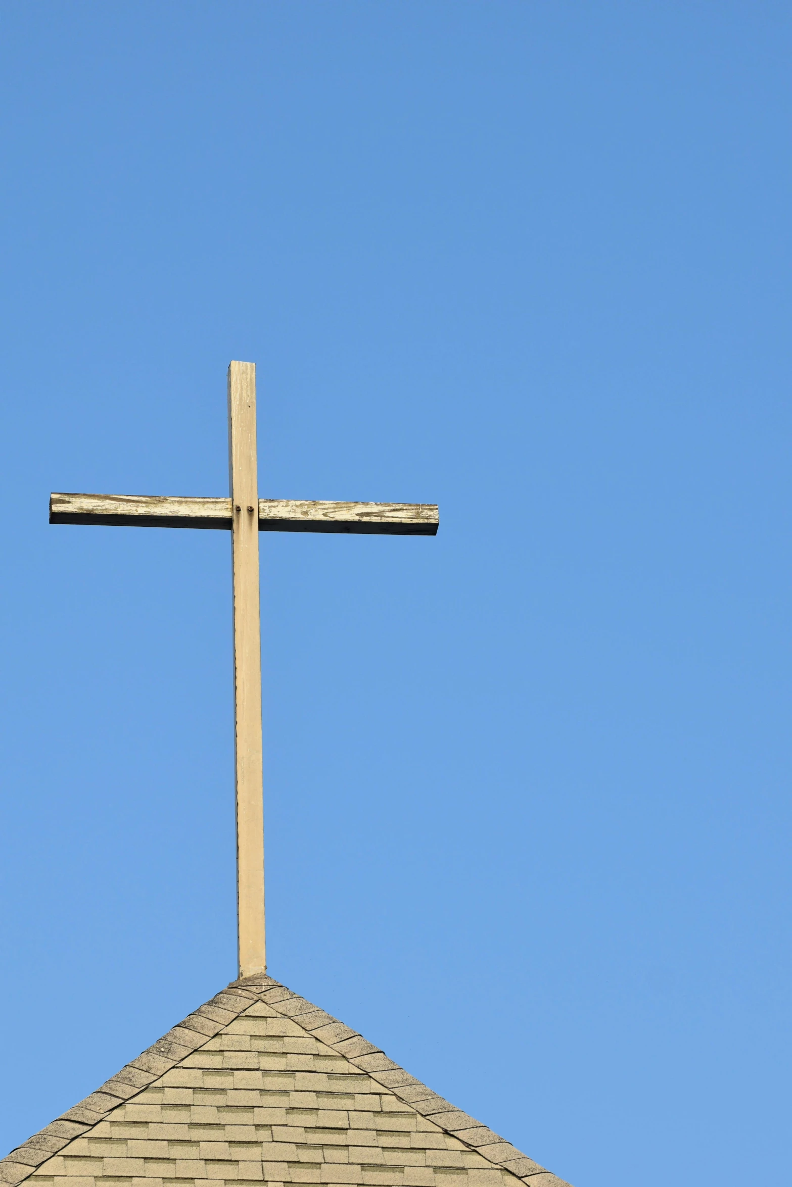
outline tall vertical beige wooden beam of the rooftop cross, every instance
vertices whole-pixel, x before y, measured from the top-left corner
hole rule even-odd
[[[264,937],[261,623],[255,461],[255,363],[228,368],[228,444],[234,578],[236,910],[240,977],[267,967]]]

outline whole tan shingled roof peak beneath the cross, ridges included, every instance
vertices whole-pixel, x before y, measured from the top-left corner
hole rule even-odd
[[[569,1187],[271,977],[232,982],[0,1161],[15,1187]]]

